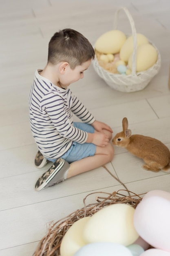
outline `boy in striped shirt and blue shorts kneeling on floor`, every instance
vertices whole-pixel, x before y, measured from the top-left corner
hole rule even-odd
[[[35,165],[41,168],[53,162],[36,182],[37,191],[113,159],[112,129],[95,120],[68,89],[84,77],[94,57],[91,43],[82,34],[63,29],[49,42],[44,70],[35,72],[29,95],[31,131],[39,149]],[[73,122],[72,113],[82,122]]]

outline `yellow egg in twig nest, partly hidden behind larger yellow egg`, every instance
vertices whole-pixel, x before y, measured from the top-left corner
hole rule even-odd
[[[90,218],[91,217],[84,217],[79,219],[68,229],[66,234],[63,236],[62,243],[60,245],[61,256],[73,256],[79,248],[86,245],[82,233],[84,226]]]

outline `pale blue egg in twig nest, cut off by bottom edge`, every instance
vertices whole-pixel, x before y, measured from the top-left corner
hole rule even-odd
[[[91,243],[80,248],[74,256],[132,256],[129,249],[115,243]]]

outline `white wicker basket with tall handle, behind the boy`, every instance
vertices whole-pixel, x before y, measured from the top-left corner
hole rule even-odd
[[[134,20],[126,7],[120,7],[115,14],[115,29],[117,29],[117,20],[119,11],[123,9],[128,17],[133,36],[133,53],[132,53],[132,73],[130,75],[113,74],[104,70],[97,61],[97,58],[93,61],[93,67],[97,74],[104,79],[104,81],[113,89],[120,92],[136,92],[143,90],[151,79],[159,72],[161,67],[161,56],[157,47],[149,41],[151,45],[157,50],[158,58],[157,62],[148,70],[143,72],[136,72],[136,54],[137,54],[137,32],[135,29]]]

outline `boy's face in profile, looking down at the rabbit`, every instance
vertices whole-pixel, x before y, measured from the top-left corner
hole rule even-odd
[[[74,70],[68,65],[64,72],[64,75],[60,76],[60,84],[68,86],[71,83],[78,81],[80,78],[84,77],[84,71],[88,69],[91,65],[91,60],[88,60],[82,65],[76,66]]]

